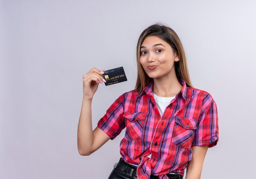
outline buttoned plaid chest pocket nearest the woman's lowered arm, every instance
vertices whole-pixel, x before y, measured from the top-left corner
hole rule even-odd
[[[193,142],[196,129],[196,119],[176,116],[171,142],[181,148],[189,148]]]

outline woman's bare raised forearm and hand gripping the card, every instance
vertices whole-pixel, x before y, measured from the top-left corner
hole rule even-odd
[[[90,155],[110,139],[99,127],[92,131],[92,97],[97,91],[99,83],[105,81],[101,74],[100,70],[92,68],[83,75],[83,100],[77,130],[77,145],[80,155]]]

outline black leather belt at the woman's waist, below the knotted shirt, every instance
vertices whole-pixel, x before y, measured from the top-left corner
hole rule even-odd
[[[131,177],[134,177],[135,179],[138,179],[138,177],[137,177],[137,167],[127,163],[122,158],[120,158],[118,163],[115,163],[114,168],[117,168],[118,170],[121,170],[121,171],[127,173],[128,175],[130,175]],[[179,179],[183,178],[182,175],[177,174],[177,173],[175,173],[175,174],[167,173],[166,175],[168,177],[178,177]],[[154,178],[154,177],[158,179],[158,176],[150,175],[150,178]]]

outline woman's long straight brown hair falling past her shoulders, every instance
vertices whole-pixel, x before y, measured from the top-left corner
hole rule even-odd
[[[175,74],[177,76],[177,79],[183,79],[186,82],[187,87],[193,87],[189,77],[189,70],[186,63],[185,51],[183,49],[180,38],[175,33],[175,31],[173,31],[173,29],[171,29],[169,26],[161,23],[156,23],[149,26],[141,33],[137,43],[136,54],[137,54],[138,74],[137,74],[137,82],[135,85],[135,89],[139,89],[140,91],[139,95],[141,95],[141,92],[144,89],[144,87],[146,87],[146,85],[148,85],[148,83],[150,83],[150,81],[153,80],[146,74],[144,68],[139,62],[140,55],[141,55],[140,53],[141,44],[143,43],[144,39],[150,35],[157,36],[160,39],[166,41],[168,44],[170,44],[170,46],[173,49],[173,52],[176,52],[177,56],[180,59],[179,61],[175,61],[174,63]]]

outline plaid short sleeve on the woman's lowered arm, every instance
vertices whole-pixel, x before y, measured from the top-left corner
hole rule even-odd
[[[216,146],[219,140],[218,110],[213,100],[200,114],[191,146]]]

